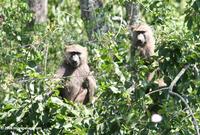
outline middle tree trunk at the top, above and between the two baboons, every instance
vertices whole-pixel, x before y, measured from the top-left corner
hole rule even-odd
[[[89,40],[94,39],[96,32],[102,31],[103,15],[96,14],[97,8],[103,7],[102,0],[79,0],[81,8],[81,18],[84,21]]]

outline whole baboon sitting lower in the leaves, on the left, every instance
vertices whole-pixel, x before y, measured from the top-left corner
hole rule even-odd
[[[55,78],[64,78],[60,89],[62,98],[86,104],[92,100],[96,81],[90,72],[87,48],[74,44],[66,46],[65,58]]]

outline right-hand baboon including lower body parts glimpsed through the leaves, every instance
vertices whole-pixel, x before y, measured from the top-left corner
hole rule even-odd
[[[155,50],[155,38],[152,28],[147,24],[134,24],[131,26],[131,32],[131,52],[134,53],[131,55],[134,56],[135,51],[139,50],[139,53],[143,58],[150,58],[151,56],[153,56]],[[155,69],[153,72],[148,73],[147,81],[153,81],[153,78],[157,73],[159,73],[159,68]],[[156,79],[154,83],[158,84],[159,88],[166,86],[163,77]],[[148,93],[150,90],[151,89],[147,89],[146,93]],[[160,97],[158,95],[151,95],[151,98],[154,103],[150,106],[149,111],[157,113],[158,110],[161,108],[161,103],[159,102]]]

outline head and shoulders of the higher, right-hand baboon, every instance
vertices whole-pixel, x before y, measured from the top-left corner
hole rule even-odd
[[[152,28],[147,24],[134,24],[131,26],[131,49],[138,48],[140,55],[148,58],[154,55],[155,38]]]

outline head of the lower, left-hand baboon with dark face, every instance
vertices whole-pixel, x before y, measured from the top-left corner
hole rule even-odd
[[[87,64],[87,48],[74,44],[65,48],[65,62],[73,68]]]

